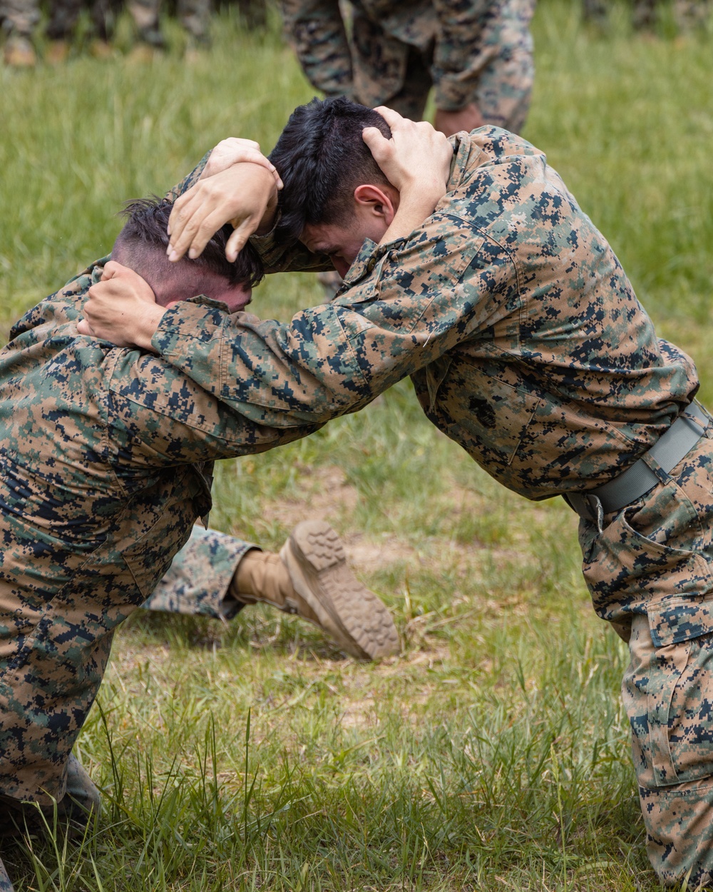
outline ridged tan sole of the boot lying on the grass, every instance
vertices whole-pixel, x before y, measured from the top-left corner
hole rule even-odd
[[[285,548],[297,563],[301,579],[292,584],[324,623],[340,647],[355,657],[390,657],[401,649],[387,608],[356,579],[347,566],[339,535],[323,520],[298,524]]]

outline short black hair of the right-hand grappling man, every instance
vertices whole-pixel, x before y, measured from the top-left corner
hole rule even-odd
[[[292,112],[270,153],[284,183],[277,229],[281,241],[297,240],[306,226],[348,226],[356,187],[388,185],[362,139],[366,127],[391,136],[377,111],[344,96],[313,99]]]

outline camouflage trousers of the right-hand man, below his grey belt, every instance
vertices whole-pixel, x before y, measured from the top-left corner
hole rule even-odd
[[[643,499],[579,527],[594,608],[631,630],[622,694],[647,852],[691,889],[713,884],[711,431],[670,475],[647,460],[661,482]]]

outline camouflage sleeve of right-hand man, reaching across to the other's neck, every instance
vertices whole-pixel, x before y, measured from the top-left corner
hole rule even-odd
[[[153,347],[256,425],[323,424],[363,408],[517,301],[510,256],[483,241],[460,221],[432,217],[407,244],[367,242],[348,290],[289,324],[247,313],[216,324],[195,304],[176,305]]]

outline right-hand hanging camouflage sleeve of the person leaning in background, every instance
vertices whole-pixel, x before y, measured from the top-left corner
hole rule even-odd
[[[481,72],[499,52],[483,40],[491,20],[509,0],[433,0],[438,32],[431,76],[438,109],[455,111],[472,102]]]

